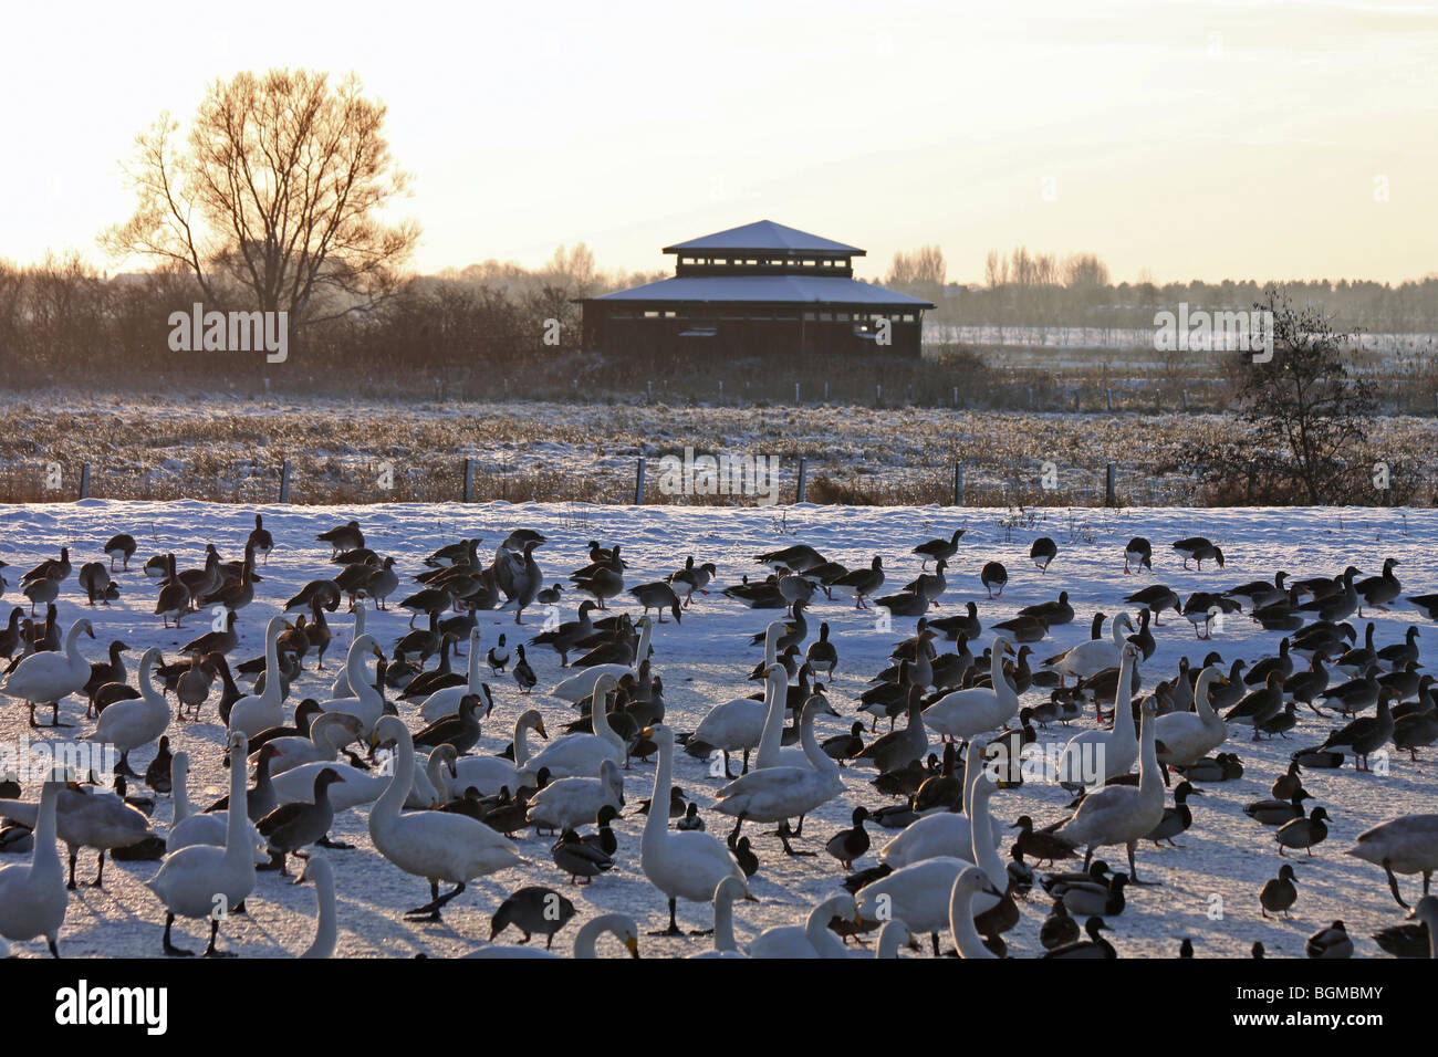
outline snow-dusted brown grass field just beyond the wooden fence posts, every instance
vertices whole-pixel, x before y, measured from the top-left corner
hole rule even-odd
[[[1091,506],[1112,462],[1120,505],[1172,506],[1198,500],[1173,467],[1179,443],[1234,429],[1211,413],[7,397],[0,502],[72,500],[85,463],[95,498],[266,502],[286,459],[296,503],[441,502],[462,498],[467,457],[476,500],[628,503],[640,454],[646,502],[754,502],[663,495],[657,463],[687,446],[777,457],[784,503],[805,459],[805,498],[818,503],[949,503],[962,462],[966,505]],[[1438,466],[1438,420],[1385,417],[1372,436]],[[1044,463],[1051,489],[1041,488]],[[1435,486],[1438,473],[1419,490],[1425,502]]]

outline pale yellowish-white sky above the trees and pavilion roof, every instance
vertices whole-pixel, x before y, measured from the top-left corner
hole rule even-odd
[[[605,269],[769,219],[869,250],[1099,253],[1116,280],[1438,272],[1438,1],[7,4],[0,259],[128,217],[119,161],[237,70],[388,104],[420,272]],[[1378,200],[1383,197],[1386,201]],[[1045,200],[1045,191],[1051,200]],[[129,267],[135,262],[129,262]],[[127,270],[127,266],[119,266]]]

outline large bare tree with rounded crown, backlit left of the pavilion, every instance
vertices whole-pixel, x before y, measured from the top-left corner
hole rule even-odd
[[[168,114],[137,137],[135,213],[101,244],[184,267],[217,305],[286,311],[292,329],[372,306],[420,234],[380,219],[410,184],[384,118],[354,75],[216,81],[186,137]]]

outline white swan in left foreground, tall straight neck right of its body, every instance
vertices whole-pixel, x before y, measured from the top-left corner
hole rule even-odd
[[[175,918],[209,918],[210,943],[204,953],[223,956],[214,948],[220,922],[255,890],[255,856],[249,848],[249,817],[246,815],[244,755],[247,748],[249,738],[242,731],[232,731],[230,810],[224,847],[191,844],[171,851],[160,866],[160,873],[147,883],[150,890],[160,896],[165,905],[164,949],[168,955],[191,953],[170,942],[170,928]]]

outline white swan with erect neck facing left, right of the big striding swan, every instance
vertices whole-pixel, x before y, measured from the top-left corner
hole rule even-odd
[[[707,903],[720,879],[732,876],[742,883],[743,870],[713,834],[700,830],[670,831],[664,804],[670,801],[673,788],[674,732],[660,725],[647,728],[644,736],[659,746],[659,767],[654,768],[654,792],[650,800],[653,810],[644,820],[644,836],[640,840],[640,869],[669,899],[666,935],[677,936],[682,933],[674,920],[676,900]]]

